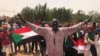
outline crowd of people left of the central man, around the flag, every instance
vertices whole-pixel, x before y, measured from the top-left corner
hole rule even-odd
[[[45,22],[41,23],[41,26],[44,27]],[[39,22],[36,25],[40,25]],[[22,28],[25,26],[21,21],[15,20],[14,22],[7,22],[6,19],[1,21],[0,26],[0,56],[6,56],[6,48],[8,48],[9,56],[17,55],[17,52],[21,51],[21,46],[23,46],[23,51],[25,53],[33,53],[33,51],[38,52],[38,46],[40,46],[40,50],[42,55],[45,52],[45,41],[42,36],[37,35],[34,37],[35,40],[30,42],[21,41],[20,43],[16,44],[12,39],[12,31]],[[32,43],[32,44],[31,44]],[[13,45],[14,44],[14,45]],[[28,46],[27,46],[28,44]],[[14,48],[13,48],[14,47]],[[29,49],[29,50],[28,50]]]

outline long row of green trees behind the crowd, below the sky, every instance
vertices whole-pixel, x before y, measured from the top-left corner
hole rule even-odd
[[[90,14],[93,14],[92,11]],[[65,7],[61,8],[47,8],[47,4],[38,5],[34,9],[30,7],[24,7],[21,11],[21,14],[28,21],[50,21],[53,18],[59,19],[61,22],[80,22],[88,18],[89,15],[86,15],[84,11],[78,10],[75,14],[73,14],[72,9],[66,9]],[[96,21],[99,20],[100,14],[96,17]],[[100,21],[100,20],[99,20]]]

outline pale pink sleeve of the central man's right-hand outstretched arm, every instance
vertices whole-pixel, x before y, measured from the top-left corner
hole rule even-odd
[[[64,35],[68,36],[68,35],[75,33],[76,31],[78,31],[81,28],[82,25],[84,25],[84,22],[80,22],[79,24],[73,25],[71,27],[63,28]]]

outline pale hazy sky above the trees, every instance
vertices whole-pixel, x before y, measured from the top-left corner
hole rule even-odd
[[[23,7],[34,8],[38,4],[47,3],[48,8],[65,7],[66,9],[83,10],[86,13],[95,10],[100,12],[100,0],[0,0],[0,16],[13,16],[20,12]]]

